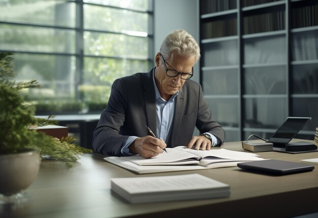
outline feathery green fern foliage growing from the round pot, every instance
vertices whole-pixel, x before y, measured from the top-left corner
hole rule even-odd
[[[15,72],[12,56],[12,53],[0,53],[0,154],[36,148],[42,157],[50,157],[71,166],[78,160],[78,154],[91,153],[91,150],[77,146],[74,137],[59,140],[29,128],[57,125],[58,122],[52,120],[53,116],[48,119],[36,118],[35,107],[24,102],[21,89],[41,86],[36,80],[18,84],[13,81]]]

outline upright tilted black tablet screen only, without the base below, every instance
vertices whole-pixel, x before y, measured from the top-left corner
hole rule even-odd
[[[273,143],[273,147],[285,147],[297,133],[304,128],[310,117],[288,117],[267,142]]]

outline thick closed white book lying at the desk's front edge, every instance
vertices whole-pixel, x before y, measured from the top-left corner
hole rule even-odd
[[[200,174],[111,178],[111,190],[130,203],[230,196],[230,186]]]

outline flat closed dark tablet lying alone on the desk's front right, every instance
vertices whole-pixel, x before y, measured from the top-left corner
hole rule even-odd
[[[243,170],[250,170],[276,175],[306,172],[314,169],[314,166],[312,165],[281,160],[243,162],[238,163],[237,166]]]

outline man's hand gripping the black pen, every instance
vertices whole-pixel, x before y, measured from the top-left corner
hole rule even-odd
[[[167,144],[163,139],[158,139],[152,136],[136,138],[129,146],[129,150],[133,154],[138,154],[144,158],[151,158],[163,153]]]

